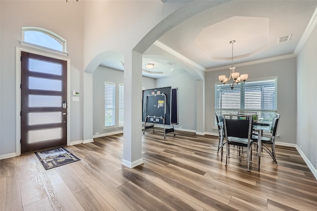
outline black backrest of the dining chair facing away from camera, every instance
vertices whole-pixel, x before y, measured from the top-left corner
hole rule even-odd
[[[224,115],[224,129],[228,136],[251,138],[253,130],[252,115]]]

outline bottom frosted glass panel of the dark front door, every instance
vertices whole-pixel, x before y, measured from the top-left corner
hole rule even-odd
[[[61,138],[61,127],[29,131],[29,143]]]

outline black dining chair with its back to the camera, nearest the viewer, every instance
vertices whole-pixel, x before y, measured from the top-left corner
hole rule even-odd
[[[253,119],[252,115],[224,115],[223,116],[224,130],[226,135],[226,164],[230,157],[230,150],[237,150],[239,155],[230,158],[247,161],[247,170],[250,171],[252,161],[252,130],[253,130]],[[230,147],[230,146],[238,146]],[[241,149],[245,147],[247,150]],[[240,157],[241,151],[247,151],[247,158],[242,159]]]

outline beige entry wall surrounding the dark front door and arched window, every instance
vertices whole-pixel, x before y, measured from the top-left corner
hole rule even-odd
[[[18,3],[18,6],[17,6]],[[22,47],[22,27],[34,26],[48,29],[67,41],[71,59],[70,90],[82,93],[83,61],[83,6],[65,6],[59,1],[1,1],[0,28],[0,155],[16,152],[16,47]],[[39,9],[41,8],[41,9]],[[58,15],[56,15],[58,13]],[[71,15],[69,15],[71,14]],[[65,30],[69,29],[71,30]],[[25,47],[27,49],[27,47]],[[69,102],[71,111],[70,141],[82,140],[82,97],[79,102]]]

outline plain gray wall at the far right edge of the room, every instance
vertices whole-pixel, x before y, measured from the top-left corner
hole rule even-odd
[[[317,169],[317,27],[297,57],[297,145]]]

